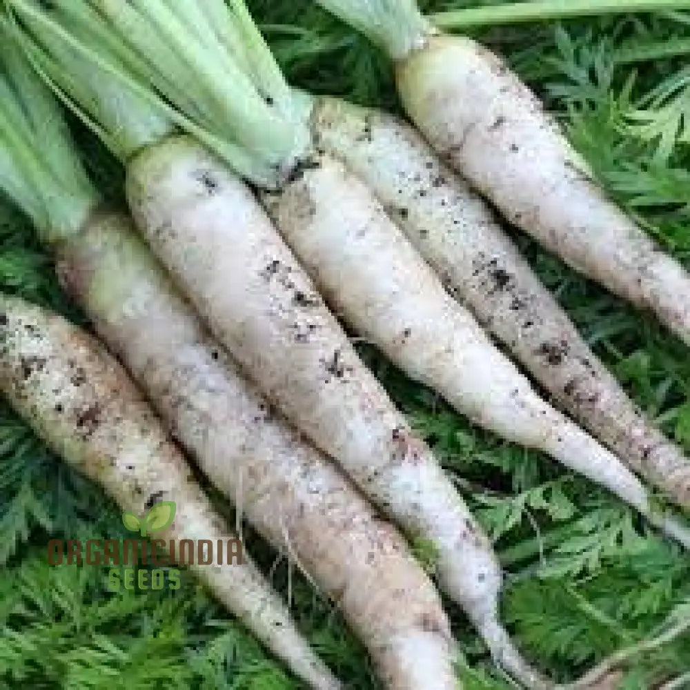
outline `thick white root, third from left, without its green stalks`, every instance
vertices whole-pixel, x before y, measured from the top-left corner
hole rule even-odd
[[[444,587],[477,624],[495,617],[491,543],[246,186],[179,137],[135,159],[127,187],[150,246],[246,375],[386,515],[436,545]]]

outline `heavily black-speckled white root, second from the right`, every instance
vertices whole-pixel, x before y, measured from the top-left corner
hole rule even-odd
[[[446,290],[631,469],[690,507],[690,463],[682,449],[635,407],[484,200],[417,130],[332,98],[317,101],[313,125],[319,146],[375,192]]]

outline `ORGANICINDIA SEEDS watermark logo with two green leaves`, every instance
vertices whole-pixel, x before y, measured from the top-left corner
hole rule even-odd
[[[89,539],[86,542],[52,539],[48,542],[48,563],[53,566],[64,563],[109,565],[108,589],[111,591],[179,589],[180,575],[175,566],[244,564],[244,544],[239,539],[151,539],[150,535],[174,524],[176,513],[173,501],[158,502],[141,517],[123,513],[122,523],[128,531],[137,532],[139,539]],[[149,565],[154,569],[141,567]]]

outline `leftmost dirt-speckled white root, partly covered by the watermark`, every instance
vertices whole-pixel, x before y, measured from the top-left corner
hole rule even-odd
[[[0,313],[0,390],[63,460],[135,515],[142,515],[151,499],[175,501],[175,522],[157,538],[237,538],[194,482],[184,457],[127,373],[101,344],[21,299],[0,295]],[[310,687],[340,687],[248,555],[243,564],[190,569]]]

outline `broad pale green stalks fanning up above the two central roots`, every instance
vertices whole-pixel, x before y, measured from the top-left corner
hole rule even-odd
[[[34,65],[124,161],[175,125],[272,186],[308,150],[308,101],[240,0],[8,3]]]

